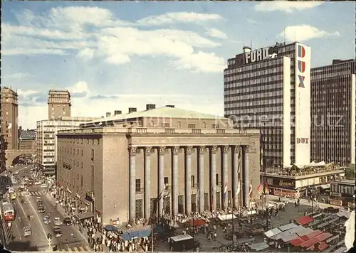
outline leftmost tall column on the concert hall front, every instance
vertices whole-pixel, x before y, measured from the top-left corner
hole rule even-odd
[[[136,150],[130,148],[130,220],[136,216]]]

